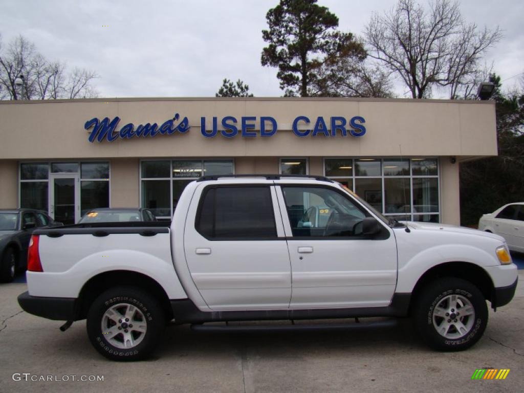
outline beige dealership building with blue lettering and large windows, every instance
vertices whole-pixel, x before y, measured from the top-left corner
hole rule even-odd
[[[459,163],[497,155],[492,101],[146,98],[0,102],[0,208],[169,219],[202,175],[339,181],[387,216],[460,223]]]

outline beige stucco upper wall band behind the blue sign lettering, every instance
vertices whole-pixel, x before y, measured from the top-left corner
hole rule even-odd
[[[89,143],[93,117],[127,123],[162,124],[174,113],[187,116],[185,134]],[[205,138],[212,116],[272,116],[279,125],[270,138]],[[304,137],[290,131],[299,115],[312,123],[323,116],[366,119],[363,137]],[[0,102],[0,159],[115,157],[385,157],[489,156],[497,154],[495,106],[481,101],[380,99],[114,99]],[[311,125],[312,127],[312,125]],[[258,127],[257,127],[258,128]],[[45,147],[45,148],[42,148]]]

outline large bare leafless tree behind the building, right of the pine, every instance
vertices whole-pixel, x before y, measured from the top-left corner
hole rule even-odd
[[[432,86],[447,86],[455,98],[485,51],[501,38],[498,27],[478,31],[466,24],[459,3],[450,0],[435,0],[429,12],[414,0],[398,0],[388,13],[372,16],[365,36],[369,56],[418,99],[430,96]]]

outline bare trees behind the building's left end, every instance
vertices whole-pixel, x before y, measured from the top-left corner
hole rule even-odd
[[[16,37],[2,50],[0,36],[0,99],[45,100],[91,98],[98,92],[92,82],[94,71],[75,68],[68,75],[65,63],[49,61],[23,36]],[[15,81],[20,78],[21,85]]]

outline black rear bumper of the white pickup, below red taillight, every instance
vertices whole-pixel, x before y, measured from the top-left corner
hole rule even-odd
[[[18,304],[24,311],[54,321],[75,321],[76,303],[75,298],[45,298],[31,296],[29,292],[18,296]]]

